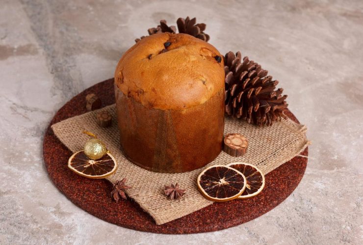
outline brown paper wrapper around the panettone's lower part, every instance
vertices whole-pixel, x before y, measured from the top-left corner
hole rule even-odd
[[[222,149],[224,89],[184,110],[147,108],[115,84],[121,146],[134,164],[154,172],[187,172],[207,165]]]

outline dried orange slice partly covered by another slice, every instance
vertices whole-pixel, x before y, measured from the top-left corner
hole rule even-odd
[[[258,195],[265,186],[263,173],[254,165],[249,163],[231,163],[228,166],[243,173],[246,177],[246,189],[238,199],[245,199]]]

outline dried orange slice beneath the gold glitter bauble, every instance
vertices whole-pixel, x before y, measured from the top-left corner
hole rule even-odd
[[[92,160],[81,150],[69,158],[68,168],[79,175],[101,179],[115,172],[117,164],[115,158],[108,152],[100,159]]]

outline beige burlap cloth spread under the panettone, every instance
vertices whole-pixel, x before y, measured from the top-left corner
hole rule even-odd
[[[113,115],[111,127],[101,128],[97,125],[96,113],[100,110],[108,110]],[[53,132],[73,152],[83,149],[85,141],[89,139],[89,136],[82,133],[83,130],[96,134],[115,156],[118,164],[116,173],[107,179],[114,183],[118,179],[127,178],[127,184],[132,186],[127,194],[154,218],[156,224],[176,220],[213,203],[198,191],[196,179],[201,169],[184,173],[157,173],[132,164],[120,150],[115,104],[100,110],[55,123],[52,125]],[[257,127],[242,120],[226,118],[225,134],[240,133],[246,136],[249,141],[247,154],[243,157],[232,157],[222,151],[207,166],[248,162],[258,166],[266,174],[307,147],[309,141],[305,132],[304,125],[291,120],[283,120],[272,126]],[[181,200],[172,201],[164,195],[163,190],[164,185],[175,182],[186,190],[186,195]]]

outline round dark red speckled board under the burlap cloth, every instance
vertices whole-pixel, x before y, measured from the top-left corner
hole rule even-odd
[[[54,136],[51,125],[86,112],[85,96],[97,94],[103,105],[115,102],[113,78],[100,82],[68,101],[55,114],[43,142],[44,163],[54,185],[73,203],[86,212],[110,223],[134,230],[165,234],[186,234],[226,229],[251,221],[270,211],[289,196],[304,175],[307,158],[295,157],[266,175],[263,191],[247,200],[213,203],[181,219],[156,225],[136,202],[128,199],[116,203],[109,193],[107,180],[87,179],[78,176],[67,167],[72,152]],[[288,113],[288,116],[298,122]],[[308,148],[301,153],[308,155]],[[132,186],[132,183],[129,183]]]

